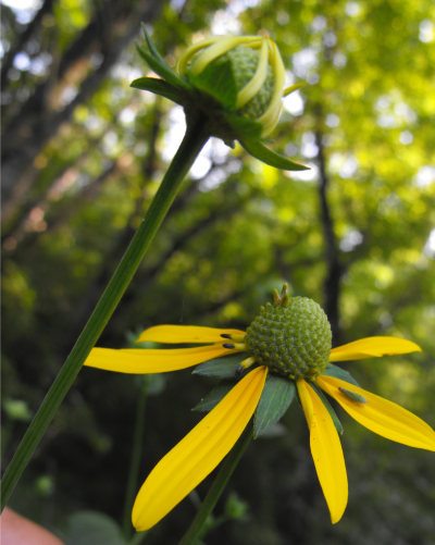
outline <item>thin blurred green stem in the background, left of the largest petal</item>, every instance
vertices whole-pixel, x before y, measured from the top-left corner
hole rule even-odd
[[[139,397],[136,408],[135,431],[133,435],[132,461],[129,465],[127,490],[125,493],[123,533],[128,540],[132,536],[132,509],[135,500],[135,491],[137,478],[139,474],[140,456],[142,453],[144,428],[145,428],[145,406],[147,404],[148,384],[150,375],[144,375],[144,382],[140,386]]]

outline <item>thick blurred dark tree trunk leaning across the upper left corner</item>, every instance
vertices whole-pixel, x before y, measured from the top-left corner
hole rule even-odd
[[[16,201],[27,193],[33,183],[35,158],[40,153],[47,141],[58,133],[60,126],[69,121],[75,108],[88,100],[98,89],[123,49],[138,35],[140,22],[152,21],[160,11],[161,5],[162,3],[156,0],[141,0],[135,4],[134,10],[128,10],[128,5],[124,7],[121,13],[109,10],[112,15],[112,27],[109,28],[108,24],[104,23],[100,34],[94,32],[92,47],[89,45],[92,33],[88,28],[85,29],[82,35],[84,41],[76,40],[76,47],[73,45],[60,61],[61,75],[65,73],[66,66],[71,66],[74,60],[87,58],[90,49],[103,55],[100,66],[83,80],[75,99],[63,110],[51,111],[46,97],[47,79],[37,87],[20,114],[7,127],[3,134],[2,151],[4,221],[10,218]],[[105,11],[104,14],[107,14]],[[97,15],[90,26],[101,26],[101,15]],[[72,49],[74,49],[74,53]]]

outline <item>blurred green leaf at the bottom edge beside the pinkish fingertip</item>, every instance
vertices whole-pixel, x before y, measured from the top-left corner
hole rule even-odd
[[[126,545],[121,528],[107,515],[78,511],[70,517],[70,545]]]

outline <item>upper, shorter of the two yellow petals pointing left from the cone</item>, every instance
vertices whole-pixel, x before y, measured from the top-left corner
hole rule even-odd
[[[136,343],[152,340],[154,343],[225,343],[222,334],[245,335],[245,331],[217,330],[215,327],[200,327],[196,325],[156,325],[146,330]],[[227,342],[227,340],[226,340]]]

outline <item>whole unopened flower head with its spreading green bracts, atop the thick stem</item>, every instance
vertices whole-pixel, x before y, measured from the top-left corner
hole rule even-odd
[[[210,136],[234,140],[260,161],[288,171],[307,166],[263,145],[276,126],[282,98],[303,84],[284,89],[285,71],[276,45],[266,37],[217,36],[189,47],[175,73],[157,51],[145,27],[149,51],[137,50],[161,79],[140,77],[132,87],[183,106],[187,124],[201,115]]]

